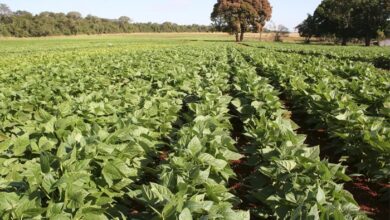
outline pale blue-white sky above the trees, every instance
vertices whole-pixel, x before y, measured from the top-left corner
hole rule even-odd
[[[13,11],[34,14],[78,11],[103,18],[130,17],[134,22],[170,21],[178,24],[210,24],[210,14],[217,0],[0,0]],[[313,13],[321,0],[270,0],[272,21],[293,30]]]

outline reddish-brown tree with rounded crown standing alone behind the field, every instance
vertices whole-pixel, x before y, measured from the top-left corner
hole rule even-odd
[[[218,0],[211,19],[219,28],[235,34],[239,42],[244,40],[245,32],[261,31],[271,14],[268,0]]]

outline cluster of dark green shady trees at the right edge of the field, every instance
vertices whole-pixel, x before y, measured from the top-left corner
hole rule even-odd
[[[335,37],[342,45],[363,39],[370,46],[372,39],[390,36],[390,1],[323,0],[297,29],[307,42],[312,37]]]

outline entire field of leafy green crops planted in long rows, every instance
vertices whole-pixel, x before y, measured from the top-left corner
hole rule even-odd
[[[381,48],[106,36],[0,54],[1,219],[367,219],[344,183],[390,178]]]

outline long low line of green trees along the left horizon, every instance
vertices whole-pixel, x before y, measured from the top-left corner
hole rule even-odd
[[[33,15],[27,11],[13,12],[0,4],[0,36],[42,37],[54,35],[111,34],[135,32],[208,32],[207,25],[178,25],[171,22],[133,23],[129,17],[106,19],[93,15],[83,17],[79,12],[42,12]]]

